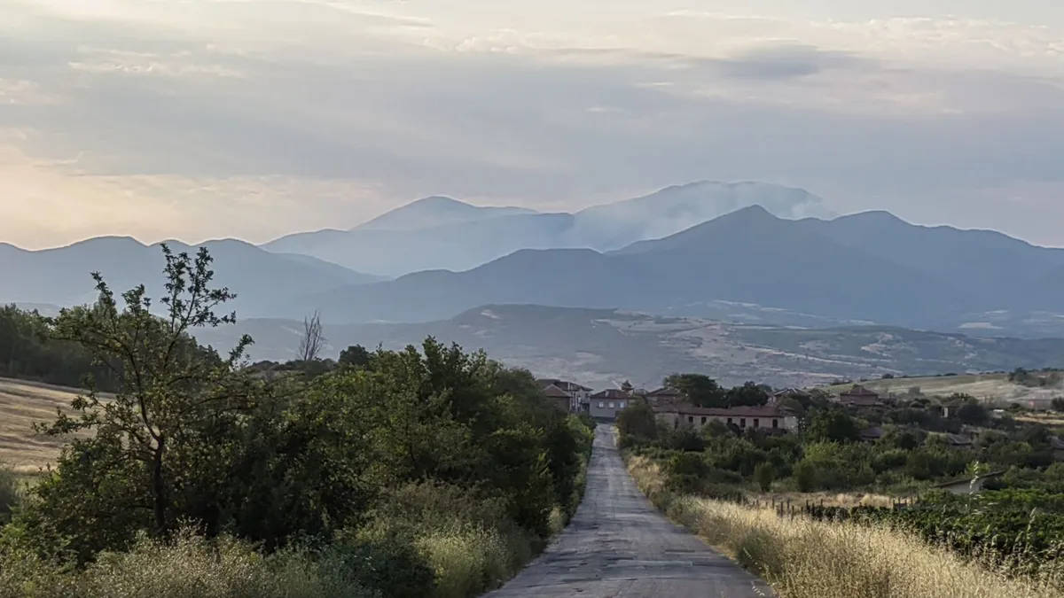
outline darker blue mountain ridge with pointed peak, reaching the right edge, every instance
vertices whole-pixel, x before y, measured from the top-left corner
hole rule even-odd
[[[912,236],[913,250],[876,233],[881,220],[878,213],[785,220],[753,206],[608,253],[522,249],[467,271],[333,289],[302,298],[293,313],[315,305],[336,323],[431,321],[479,304],[536,303],[702,316],[716,313],[710,303],[727,301],[934,330],[991,317],[1004,325],[992,330],[1008,332],[1030,313],[1064,311],[1064,293],[1051,278],[1064,267],[1060,250],[898,220],[902,231],[892,234]],[[868,227],[868,235],[847,236],[859,227]],[[921,261],[920,252],[945,258]],[[978,278],[968,280],[955,272],[974,270],[972,254],[981,260]]]

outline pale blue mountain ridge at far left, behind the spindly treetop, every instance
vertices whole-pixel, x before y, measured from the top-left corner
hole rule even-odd
[[[170,242],[176,253],[197,248]],[[243,316],[268,316],[293,298],[382,280],[301,254],[264,251],[238,240],[203,244],[212,258],[216,281],[238,297],[233,306]],[[162,293],[165,260],[159,245],[130,237],[99,237],[67,247],[27,251],[0,246],[0,303],[76,305],[96,300],[90,277],[99,271],[116,293],[146,284],[151,297]]]

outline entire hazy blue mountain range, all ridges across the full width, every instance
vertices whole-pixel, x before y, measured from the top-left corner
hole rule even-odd
[[[757,198],[776,213],[757,203],[698,221]],[[234,308],[245,318],[301,320],[320,310],[330,325],[416,323],[447,320],[479,305],[516,303],[764,326],[1064,336],[1064,249],[993,231],[916,226],[886,212],[799,217],[821,210],[816,196],[800,189],[695,183],[577,214],[429,198],[352,231],[329,233],[375,238],[376,245],[358,253],[367,264],[401,258],[409,266],[410,260],[459,254],[472,264],[396,279],[321,255],[281,251],[280,240],[265,247],[233,239],[205,246],[216,260],[218,283],[238,294]],[[692,220],[697,223],[664,234]],[[544,236],[547,221],[563,236],[582,231],[595,239],[586,245],[598,248],[554,247],[556,238]],[[426,228],[429,222],[437,223]],[[439,231],[450,232],[439,236]],[[503,246],[516,249],[484,258],[485,248]],[[162,267],[157,246],[126,237],[44,251],[0,245],[0,302],[92,301],[94,270],[115,289],[147,283],[157,296]]]

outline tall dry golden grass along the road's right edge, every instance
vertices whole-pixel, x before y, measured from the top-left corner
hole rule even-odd
[[[641,458],[629,470],[670,518],[786,598],[1064,598],[1059,571],[1010,579],[902,532],[670,495],[658,466]]]

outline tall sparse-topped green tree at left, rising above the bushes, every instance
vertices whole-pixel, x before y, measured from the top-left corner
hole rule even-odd
[[[119,308],[96,272],[97,303],[63,310],[55,320],[56,337],[83,347],[117,380],[107,399],[88,380],[71,403],[73,414],[60,411],[54,422],[38,427],[51,435],[90,433],[64,450],[57,475],[36,488],[40,510],[71,526],[61,533],[85,541],[77,550],[81,559],[131,541],[140,527],[156,535],[173,529],[176,500],[188,483],[187,460],[205,448],[203,431],[254,404],[262,388],[238,371],[250,337],[221,358],[189,335],[235,320],[234,314],[215,312],[235,295],[212,285],[207,251],[194,260],[164,245],[163,253],[164,317],[151,313],[144,285],[124,293]]]

